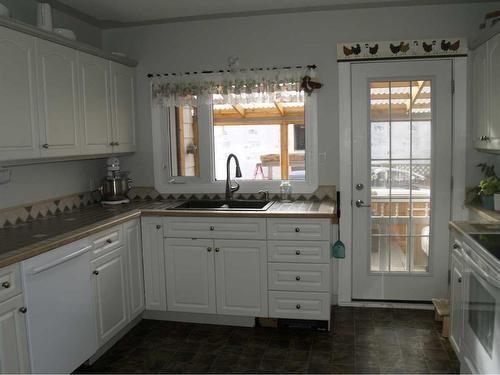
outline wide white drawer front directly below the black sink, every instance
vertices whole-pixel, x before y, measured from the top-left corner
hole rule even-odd
[[[167,217],[165,237],[265,239],[266,220],[252,218]]]

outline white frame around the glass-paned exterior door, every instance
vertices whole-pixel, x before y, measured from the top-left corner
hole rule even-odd
[[[452,192],[450,220],[466,217],[465,168],[467,151],[467,57],[441,58],[451,60],[454,93],[452,97]],[[421,59],[426,61],[427,59]],[[394,61],[394,60],[387,60]],[[427,304],[352,301],[352,90],[351,66],[363,62],[338,63],[339,79],[339,191],[342,193],[339,219],[340,233],[346,246],[346,257],[338,259],[338,304],[341,306],[381,306],[429,308]],[[380,63],[380,61],[378,61]],[[451,88],[450,88],[451,89]]]

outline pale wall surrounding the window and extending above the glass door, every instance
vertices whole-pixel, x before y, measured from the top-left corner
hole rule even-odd
[[[153,185],[149,72],[219,69],[229,56],[241,67],[317,64],[324,88],[318,97],[320,183],[338,184],[336,44],[363,40],[473,38],[484,14],[500,2],[372,8],[169,23],[105,30],[106,50],[139,60],[139,151],[125,165],[137,185]]]

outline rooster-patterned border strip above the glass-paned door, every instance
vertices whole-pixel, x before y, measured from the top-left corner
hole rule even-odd
[[[338,61],[443,56],[467,56],[467,41],[463,38],[441,38],[337,44]]]

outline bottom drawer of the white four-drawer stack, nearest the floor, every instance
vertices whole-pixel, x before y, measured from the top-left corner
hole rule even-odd
[[[291,319],[330,319],[328,293],[269,292],[269,317]]]

